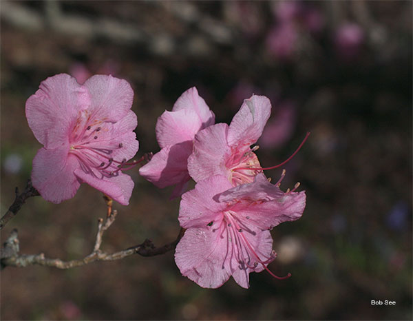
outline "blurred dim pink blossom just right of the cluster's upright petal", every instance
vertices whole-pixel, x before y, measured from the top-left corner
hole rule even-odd
[[[295,103],[293,101],[280,103],[268,120],[258,144],[266,149],[284,145],[293,134],[296,121]]]

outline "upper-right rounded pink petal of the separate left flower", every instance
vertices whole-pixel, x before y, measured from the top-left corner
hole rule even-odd
[[[125,117],[134,102],[134,91],[123,79],[99,74],[87,79],[84,85],[92,99],[89,110],[98,119],[116,122]]]

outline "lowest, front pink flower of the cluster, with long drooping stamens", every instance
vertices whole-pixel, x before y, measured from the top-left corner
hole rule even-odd
[[[297,220],[306,206],[304,191],[284,193],[264,174],[231,187],[226,177],[211,176],[182,195],[179,221],[187,231],[175,261],[182,275],[201,287],[220,287],[233,276],[248,288],[249,273],[271,273],[267,265],[276,253],[270,230]]]

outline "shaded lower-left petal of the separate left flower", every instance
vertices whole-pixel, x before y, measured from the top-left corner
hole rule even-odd
[[[41,196],[52,203],[72,198],[81,185],[73,172],[76,157],[68,155],[69,146],[39,149],[33,159],[32,184]]]

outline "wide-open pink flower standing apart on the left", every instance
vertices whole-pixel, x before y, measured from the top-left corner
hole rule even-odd
[[[123,172],[138,151],[127,81],[92,76],[84,85],[68,74],[43,81],[25,106],[29,127],[43,144],[32,183],[45,200],[72,198],[81,183],[128,205],[134,182]]]

